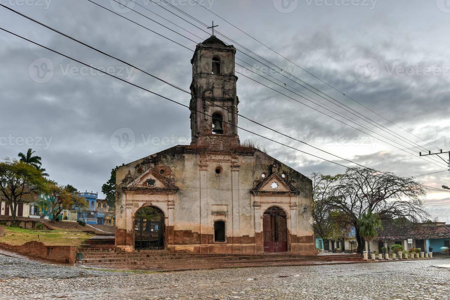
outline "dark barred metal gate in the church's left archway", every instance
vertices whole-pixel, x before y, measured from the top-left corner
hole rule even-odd
[[[135,215],[135,249],[164,249],[164,213],[145,206]]]

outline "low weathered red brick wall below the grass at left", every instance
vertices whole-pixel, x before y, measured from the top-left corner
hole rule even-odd
[[[31,241],[17,246],[0,243],[0,248],[46,260],[69,264],[75,263],[76,246],[47,246],[41,242]]]

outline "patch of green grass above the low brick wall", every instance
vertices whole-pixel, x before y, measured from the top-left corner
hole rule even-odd
[[[38,241],[49,246],[79,246],[86,239],[94,235],[84,232],[54,232],[23,229],[18,227],[5,227],[5,236],[0,237],[0,242],[9,245],[23,245],[26,242]]]

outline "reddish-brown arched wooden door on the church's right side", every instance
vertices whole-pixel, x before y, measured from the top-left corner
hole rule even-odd
[[[263,215],[264,252],[288,251],[286,214],[279,207],[268,208]]]

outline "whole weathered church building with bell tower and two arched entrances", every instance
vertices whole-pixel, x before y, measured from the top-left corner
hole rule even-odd
[[[196,47],[190,145],[117,170],[117,249],[317,254],[311,179],[240,145],[235,54],[215,36]]]

